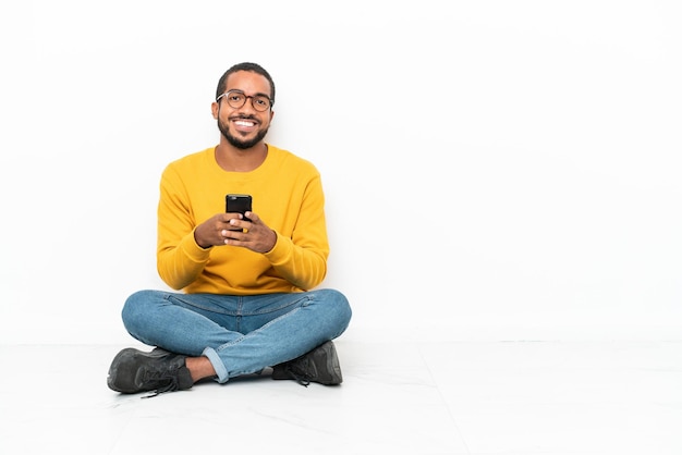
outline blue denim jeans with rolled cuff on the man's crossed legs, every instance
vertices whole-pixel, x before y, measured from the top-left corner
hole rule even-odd
[[[254,296],[139,291],[122,317],[145,344],[208,357],[223,383],[336,339],[349,325],[351,307],[334,290]]]

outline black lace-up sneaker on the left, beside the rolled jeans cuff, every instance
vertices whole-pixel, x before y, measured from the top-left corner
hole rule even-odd
[[[150,353],[129,347],[113,358],[107,384],[121,393],[163,392],[191,389],[192,374],[185,366],[185,356],[156,348]]]

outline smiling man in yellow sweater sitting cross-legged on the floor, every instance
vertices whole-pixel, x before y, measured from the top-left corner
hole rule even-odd
[[[232,66],[211,103],[218,146],[163,171],[157,268],[183,292],[127,298],[125,329],[158,347],[121,351],[109,369],[110,389],[158,394],[267,367],[273,379],[341,383],[331,340],[348,328],[351,308],[340,292],[315,290],[329,255],[320,175],[265,143],[273,103],[266,70]],[[228,194],[249,195],[253,211],[226,211]]]

